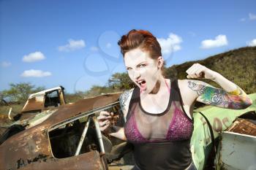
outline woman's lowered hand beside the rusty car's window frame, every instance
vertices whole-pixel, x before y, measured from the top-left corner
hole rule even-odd
[[[99,116],[97,117],[97,120],[99,122],[99,129],[100,131],[104,131],[108,133],[110,128],[110,120],[113,116],[113,112],[106,112],[102,111],[99,113]]]

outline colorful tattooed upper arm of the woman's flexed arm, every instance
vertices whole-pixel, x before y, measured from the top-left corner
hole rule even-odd
[[[232,92],[226,92],[223,89],[213,88],[193,81],[189,81],[188,86],[197,92],[197,101],[204,104],[229,109],[245,109],[252,104],[251,99],[239,87]]]

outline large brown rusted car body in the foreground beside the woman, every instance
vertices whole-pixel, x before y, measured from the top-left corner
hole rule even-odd
[[[0,145],[0,169],[125,169],[129,144],[103,135],[97,123],[102,110],[115,112],[113,124],[124,123],[120,94],[83,98],[20,120],[23,128]]]

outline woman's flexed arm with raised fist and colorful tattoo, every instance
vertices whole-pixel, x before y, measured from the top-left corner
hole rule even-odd
[[[188,80],[188,87],[196,93],[197,101],[228,109],[246,109],[252,104],[252,100],[238,85],[199,63],[187,70],[187,78],[199,78],[202,73],[204,78],[217,82],[223,89],[214,88],[206,82]]]

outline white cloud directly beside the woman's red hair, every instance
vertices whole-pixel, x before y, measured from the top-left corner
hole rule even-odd
[[[176,52],[178,50],[181,50],[181,36],[178,36],[176,34],[170,33],[167,39],[159,38],[157,39],[159,42],[162,54],[163,55],[170,55],[170,53]]]

